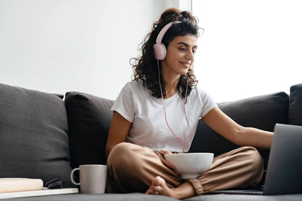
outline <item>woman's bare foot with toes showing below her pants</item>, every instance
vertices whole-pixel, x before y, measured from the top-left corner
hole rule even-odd
[[[160,194],[175,198],[174,191],[167,186],[166,181],[160,176],[153,179],[152,185],[146,191],[146,194]]]

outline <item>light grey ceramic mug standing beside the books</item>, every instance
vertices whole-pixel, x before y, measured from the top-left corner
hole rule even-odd
[[[73,180],[73,172],[80,171],[80,182]],[[107,165],[80,165],[70,173],[70,180],[74,185],[80,185],[81,193],[105,193],[107,178]]]

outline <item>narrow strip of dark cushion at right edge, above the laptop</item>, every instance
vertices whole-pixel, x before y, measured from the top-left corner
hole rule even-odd
[[[302,83],[290,87],[289,124],[302,126]]]

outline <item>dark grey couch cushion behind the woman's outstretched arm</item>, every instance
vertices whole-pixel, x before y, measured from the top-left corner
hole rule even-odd
[[[222,112],[244,127],[273,132],[276,123],[288,124],[289,96],[285,92],[259,95],[217,105]],[[217,134],[201,119],[189,152],[210,152],[217,156],[236,148],[239,146]],[[269,150],[259,149],[259,151],[266,168]],[[262,184],[263,180],[258,185]]]

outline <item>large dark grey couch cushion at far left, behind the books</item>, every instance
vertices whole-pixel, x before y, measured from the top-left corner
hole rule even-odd
[[[63,95],[0,84],[0,177],[70,182]]]

